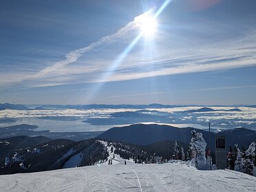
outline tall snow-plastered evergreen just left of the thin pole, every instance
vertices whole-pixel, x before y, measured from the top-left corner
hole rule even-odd
[[[195,164],[198,169],[209,169],[206,167],[206,157],[205,149],[206,142],[201,133],[193,130],[191,131],[192,138],[190,142],[192,160],[191,162]]]

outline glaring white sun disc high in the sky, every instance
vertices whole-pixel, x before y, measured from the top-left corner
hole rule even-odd
[[[144,36],[152,36],[156,32],[156,19],[147,15],[138,19],[138,26]]]

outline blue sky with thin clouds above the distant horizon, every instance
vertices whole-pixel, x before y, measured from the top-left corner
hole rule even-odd
[[[0,1],[0,103],[256,104],[255,8],[255,0]],[[151,36],[142,34],[145,16],[156,19]]]

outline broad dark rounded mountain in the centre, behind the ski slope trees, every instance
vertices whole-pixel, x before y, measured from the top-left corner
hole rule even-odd
[[[117,140],[135,145],[150,145],[163,140],[177,140],[179,142],[189,143],[191,140],[191,131],[193,127],[178,128],[169,125],[158,124],[134,124],[125,127],[113,127],[98,138]],[[209,133],[201,129],[195,129],[209,138]],[[211,139],[214,140],[215,134],[211,133]],[[207,141],[206,141],[207,142]]]

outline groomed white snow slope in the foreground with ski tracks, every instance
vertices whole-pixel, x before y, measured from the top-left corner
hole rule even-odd
[[[256,191],[256,178],[186,164],[101,164],[0,175],[0,191]]]

